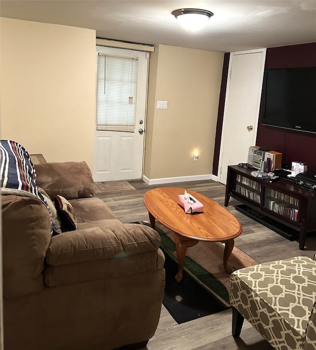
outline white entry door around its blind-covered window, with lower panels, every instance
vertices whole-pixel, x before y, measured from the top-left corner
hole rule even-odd
[[[96,182],[140,179],[143,174],[145,135],[142,131],[145,131],[146,122],[149,53],[97,46],[96,72],[99,52],[138,60],[136,124],[134,132],[97,131],[95,126],[93,178]]]

